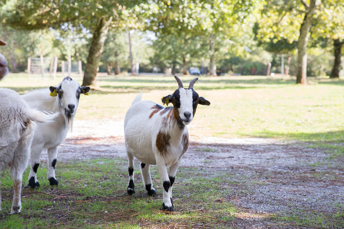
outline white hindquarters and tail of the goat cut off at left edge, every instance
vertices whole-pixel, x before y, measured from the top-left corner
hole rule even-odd
[[[29,162],[34,122],[52,122],[57,116],[30,109],[17,92],[0,88],[0,172],[8,165],[11,167],[14,187],[11,213],[21,211],[22,176]]]

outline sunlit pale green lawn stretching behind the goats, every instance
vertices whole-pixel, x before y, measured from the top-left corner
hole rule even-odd
[[[193,77],[182,77],[184,84]],[[37,87],[57,85],[61,77],[28,80],[10,74],[0,86],[25,93]],[[79,80],[80,81],[80,80]],[[203,77],[195,84],[211,105],[198,106],[188,126],[191,135],[264,137],[310,142],[343,142],[343,80],[313,80],[309,86],[293,79],[268,77]],[[143,99],[161,104],[162,96],[176,89],[173,77],[99,76],[96,90],[82,96],[76,119],[124,119],[131,101],[144,91]]]

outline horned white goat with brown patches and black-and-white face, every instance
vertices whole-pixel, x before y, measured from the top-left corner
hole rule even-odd
[[[163,185],[163,209],[173,211],[172,186],[183,154],[189,146],[189,124],[198,104],[210,105],[199,97],[191,81],[189,88],[183,88],[182,81],[174,76],[179,88],[173,94],[163,97],[162,107],[152,101],[141,101],[141,94],[132,102],[124,120],[125,147],[129,162],[128,194],[135,193],[133,172],[134,156],[141,161],[141,172],[149,196],[156,196],[150,176],[150,165],[157,165]],[[167,166],[170,166],[167,172]]]

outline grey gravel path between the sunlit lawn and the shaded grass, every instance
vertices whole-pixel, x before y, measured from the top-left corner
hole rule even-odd
[[[335,214],[344,203],[344,163],[328,156],[296,142],[191,135],[180,166],[201,167],[209,174],[224,171],[233,180],[223,187],[224,197],[250,211]],[[75,121],[73,133],[59,148],[58,160],[100,157],[126,160],[122,122]],[[47,159],[46,152],[41,159]]]

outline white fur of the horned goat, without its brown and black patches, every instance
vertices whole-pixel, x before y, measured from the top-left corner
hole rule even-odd
[[[169,176],[175,177],[175,173],[184,153],[184,145],[182,144],[183,135],[186,134],[187,137],[189,135],[187,127],[184,125],[180,128],[173,115],[170,115],[172,117],[165,123],[164,120],[166,120],[169,111],[160,115],[162,109],[149,118],[153,111],[152,107],[154,107],[156,103],[147,100],[139,102],[140,98],[141,95],[138,95],[134,99],[124,120],[125,147],[128,154],[129,168],[134,168],[134,156],[142,163],[145,163],[146,167],[143,169],[141,168],[143,181],[145,185],[151,184],[151,189],[154,190],[149,173],[149,165],[157,164],[162,183],[164,181],[170,181]],[[188,98],[189,95],[185,93],[185,99]],[[182,109],[187,110],[189,106],[185,106]],[[156,145],[159,131],[169,134],[171,137],[168,153],[164,156],[158,151]],[[167,172],[167,166],[170,166],[169,173]],[[133,176],[129,177],[129,181],[132,177]],[[128,187],[128,190],[131,189],[129,188],[130,187]],[[172,198],[172,186],[170,186],[169,192],[163,190],[163,204],[172,209],[170,198]]]

